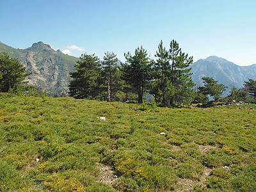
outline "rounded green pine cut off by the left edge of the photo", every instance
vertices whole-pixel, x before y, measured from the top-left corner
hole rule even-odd
[[[30,73],[25,72],[26,68],[16,58],[10,58],[6,53],[0,52],[0,92],[8,92],[21,88]]]

